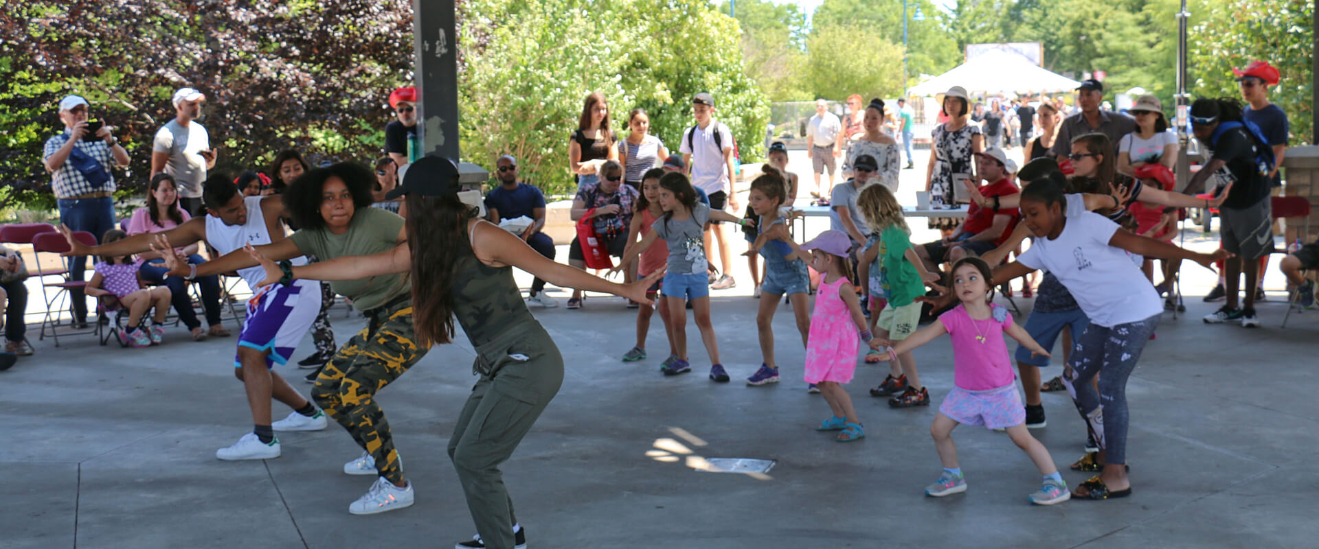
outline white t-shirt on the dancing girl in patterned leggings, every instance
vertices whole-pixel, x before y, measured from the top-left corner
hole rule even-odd
[[[1163,312],[1158,294],[1126,250],[1108,245],[1117,224],[1086,212],[1080,195],[1068,195],[1067,225],[1058,238],[1035,238],[1021,265],[1054,274],[1091,323],[1113,328]],[[1076,208],[1082,209],[1076,212]],[[1076,213],[1076,215],[1074,215]]]

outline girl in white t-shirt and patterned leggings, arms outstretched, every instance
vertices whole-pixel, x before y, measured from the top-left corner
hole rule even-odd
[[[995,279],[1010,280],[1037,269],[1049,270],[1089,317],[1089,327],[1076,338],[1071,353],[1074,373],[1063,382],[1099,442],[1099,454],[1088,459],[1093,465],[1103,462],[1103,469],[1076,487],[1072,496],[1124,498],[1132,492],[1125,469],[1126,378],[1163,311],[1158,294],[1128,251],[1191,259],[1206,267],[1231,254],[1224,250],[1200,254],[1132,234],[1086,211],[1082,203],[1079,195],[1064,197],[1062,184],[1053,179],[1028,186],[1021,194],[1021,212],[1037,234],[1035,244],[1016,262],[996,269]],[[1097,392],[1089,384],[1095,375],[1099,375]]]

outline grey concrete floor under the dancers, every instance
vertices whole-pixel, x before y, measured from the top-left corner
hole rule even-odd
[[[904,172],[907,192],[911,176]],[[735,262],[745,280],[745,261]],[[1213,283],[1194,266],[1184,278],[1195,296]],[[1281,287],[1275,271],[1269,283]],[[1216,305],[1199,298],[1187,299],[1181,320],[1165,315],[1128,384],[1134,494],[1041,508],[1025,499],[1039,482],[1030,461],[979,428],[955,432],[968,492],[923,496],[939,473],[927,432],[935,408],[890,409],[868,396],[885,365],[859,366],[848,387],[867,438],[843,445],[814,432],[828,408],[801,382],[803,350],[787,311],[774,325],[783,383],[745,387],[760,363],[748,286],[714,299],[729,384],[706,379],[690,323],[696,367],[663,378],[658,327],[652,358],[617,359],[634,332],[634,311],[621,300],[534,311],[567,377],[503,467],[532,546],[1308,548],[1319,537],[1310,492],[1319,473],[1307,465],[1319,452],[1319,382],[1308,370],[1319,315],[1293,315],[1278,329],[1281,292],[1260,305],[1264,327],[1254,330],[1202,324]],[[1029,309],[1030,300],[1017,301]],[[343,305],[331,320],[340,342],[363,327]],[[445,456],[474,382],[466,340],[431,350],[381,392],[418,495],[412,508],[365,517],[346,507],[372,479],[340,471],[360,450],[335,425],[281,434],[277,459],[214,458],[251,424],[232,353],[233,338],[191,342],[182,330],[142,350],[78,337],[58,349],[37,344],[34,357],[0,373],[0,548],[447,548],[475,533]],[[936,405],[952,383],[951,348],[935,341],[917,358]],[[278,371],[309,387],[295,367]],[[1064,394],[1046,394],[1045,407],[1049,427],[1033,433],[1066,469],[1080,457],[1082,423]],[[277,417],[286,412],[277,404]],[[682,458],[661,461],[661,449]],[[699,473],[683,452],[777,465],[762,478]]]

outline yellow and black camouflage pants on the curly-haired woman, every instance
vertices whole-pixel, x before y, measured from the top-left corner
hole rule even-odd
[[[348,429],[352,440],[375,458],[380,477],[393,483],[402,482],[404,473],[385,412],[375,396],[430,350],[414,342],[412,315],[410,300],[369,315],[367,328],[339,348],[311,390],[321,409]]]

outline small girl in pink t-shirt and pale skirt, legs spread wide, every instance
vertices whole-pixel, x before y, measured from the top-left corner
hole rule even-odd
[[[1008,309],[989,303],[988,295],[993,284],[989,265],[984,259],[959,259],[952,265],[952,280],[944,286],[956,294],[962,304],[889,349],[889,357],[896,361],[898,354],[910,353],[944,333],[952,340],[954,387],[939,404],[939,413],[930,425],[943,473],[925,488],[925,495],[939,498],[967,491],[967,481],[958,465],[958,446],[952,442],[952,429],[967,424],[1005,429],[1017,448],[1035,462],[1045,479],[1039,491],[1028,496],[1030,503],[1051,506],[1066,502],[1071,492],[1058,474],[1054,458],[1026,429],[1026,412],[1013,383],[1016,377],[1012,358],[1002,336],[1012,336],[1030,349],[1033,355],[1047,357],[1049,352],[1012,321]]]

